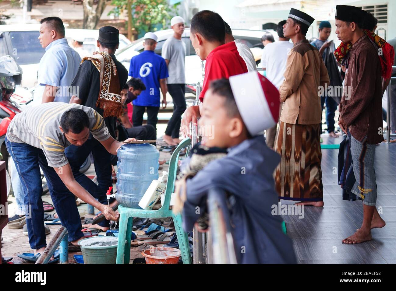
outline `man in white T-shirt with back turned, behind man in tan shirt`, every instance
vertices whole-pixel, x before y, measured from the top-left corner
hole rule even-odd
[[[286,20],[278,23],[276,32],[278,33],[279,41],[268,43],[264,47],[263,56],[261,57],[261,67],[266,70],[267,79],[278,89],[284,80],[283,75],[286,70],[287,54],[293,48],[293,44],[289,42],[289,38],[283,35],[283,25],[285,23]],[[280,111],[282,111],[282,105],[280,106]],[[269,148],[274,147],[277,126],[278,124],[266,131],[266,141]]]

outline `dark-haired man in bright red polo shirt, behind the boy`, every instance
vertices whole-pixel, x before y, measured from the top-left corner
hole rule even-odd
[[[194,15],[190,24],[190,40],[196,54],[206,60],[205,79],[200,101],[204,101],[206,90],[212,80],[229,78],[247,73],[245,61],[240,57],[235,42],[224,43],[225,26],[221,16],[213,11],[203,10]],[[189,125],[197,125],[201,116],[199,106],[186,109],[181,121],[181,131],[190,136]]]

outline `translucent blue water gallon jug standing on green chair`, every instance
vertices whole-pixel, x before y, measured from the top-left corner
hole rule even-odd
[[[160,152],[149,143],[125,144],[117,153],[116,200],[125,207],[140,208],[138,203],[152,180],[158,179]]]

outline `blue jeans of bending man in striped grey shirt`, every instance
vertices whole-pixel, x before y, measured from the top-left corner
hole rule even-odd
[[[69,232],[69,242],[83,237],[80,214],[74,195],[66,188],[53,167],[48,166],[43,151],[25,143],[11,143],[7,137],[5,141],[22,182],[25,205],[29,205],[31,209],[30,213],[26,213],[27,217],[30,216],[26,219],[30,247],[40,249],[47,245],[43,222],[44,208],[41,200],[43,188],[40,167],[46,177],[49,194],[51,194],[59,219]]]

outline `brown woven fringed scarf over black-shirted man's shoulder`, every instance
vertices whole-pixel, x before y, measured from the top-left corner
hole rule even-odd
[[[100,90],[96,107],[103,109],[103,117],[120,117],[122,115],[120,80],[113,59],[109,53],[101,51],[96,55],[84,57],[81,63],[86,60],[93,63],[100,75]]]

